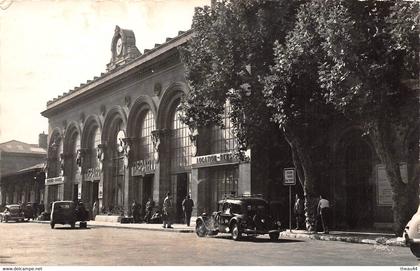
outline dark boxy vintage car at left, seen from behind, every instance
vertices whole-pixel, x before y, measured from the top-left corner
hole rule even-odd
[[[76,227],[76,222],[80,222],[80,228],[86,228],[86,221],[89,220],[89,213],[83,203],[76,204],[73,201],[55,201],[52,204],[50,225],[54,229],[56,224],[70,224]]]

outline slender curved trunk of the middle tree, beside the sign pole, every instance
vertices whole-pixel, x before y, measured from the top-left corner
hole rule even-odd
[[[292,128],[285,128],[284,133],[287,142],[292,148],[293,163],[298,171],[298,176],[303,182],[306,229],[314,232],[316,231],[318,195],[316,193],[316,175],[310,156],[310,149],[305,147],[303,140],[297,136],[297,133],[293,132]]]

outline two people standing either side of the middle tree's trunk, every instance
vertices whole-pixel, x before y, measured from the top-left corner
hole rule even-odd
[[[300,198],[296,194],[296,200],[294,205],[294,213],[296,217],[296,230],[305,229],[305,207],[304,199]],[[319,196],[318,207],[317,207],[317,223],[321,223],[324,233],[329,233],[328,225],[330,221],[330,202],[325,199],[322,195]]]

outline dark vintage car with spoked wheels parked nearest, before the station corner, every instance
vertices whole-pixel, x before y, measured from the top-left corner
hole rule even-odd
[[[202,214],[196,220],[199,237],[230,233],[233,240],[243,234],[257,236],[268,234],[271,240],[280,235],[280,222],[270,216],[267,201],[260,197],[234,197],[219,201],[218,211]]]

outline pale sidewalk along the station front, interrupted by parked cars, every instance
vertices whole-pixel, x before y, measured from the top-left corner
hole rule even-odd
[[[49,221],[35,220],[33,223],[49,224]],[[121,224],[114,222],[99,222],[88,221],[88,227],[91,228],[118,228],[118,229],[135,229],[135,230],[148,230],[148,231],[165,231],[165,232],[178,232],[178,233],[194,233],[195,221],[191,221],[188,227],[185,224],[173,224],[173,229],[162,228],[162,224]],[[347,231],[330,231],[329,234],[323,233],[310,233],[304,230],[285,230],[280,233],[280,238],[296,238],[296,239],[314,239],[324,241],[341,241],[349,243],[361,243],[371,245],[383,246],[406,246],[402,237],[395,237],[389,233],[370,233],[370,232],[347,232]]]

